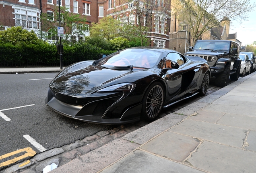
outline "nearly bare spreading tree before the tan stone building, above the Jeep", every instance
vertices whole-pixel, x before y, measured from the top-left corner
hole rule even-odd
[[[193,44],[207,30],[219,27],[224,18],[243,21],[255,3],[250,0],[173,0],[173,10],[180,21],[188,24]]]

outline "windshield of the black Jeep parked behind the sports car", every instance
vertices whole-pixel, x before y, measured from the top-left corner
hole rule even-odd
[[[227,50],[229,51],[229,42],[222,41],[200,41],[196,42],[194,50]]]

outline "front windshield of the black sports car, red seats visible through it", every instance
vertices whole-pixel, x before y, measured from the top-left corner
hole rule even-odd
[[[142,48],[128,48],[118,51],[111,56],[107,56],[99,61],[97,66],[103,68],[113,67],[138,67],[138,68],[152,68],[159,61],[161,52],[155,50]]]

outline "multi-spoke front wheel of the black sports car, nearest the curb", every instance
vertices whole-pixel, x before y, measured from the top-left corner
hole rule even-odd
[[[163,85],[160,82],[154,82],[149,86],[142,99],[142,118],[154,121],[163,108],[163,102]]]

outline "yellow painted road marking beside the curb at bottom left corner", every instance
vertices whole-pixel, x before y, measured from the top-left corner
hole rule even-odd
[[[5,161],[3,163],[0,163],[0,167],[10,165],[12,163],[15,163],[15,162],[21,160],[21,159],[24,159],[26,157],[32,157],[36,154],[36,152],[31,147],[27,147],[27,148],[24,148],[24,149],[19,149],[17,151],[13,151],[11,153],[7,153],[5,155],[2,155],[2,156],[0,156],[0,160],[2,160],[4,158],[7,158],[7,157],[10,157],[10,156],[13,156],[13,155],[16,155],[16,154],[19,154],[19,153],[22,153],[22,152],[26,152],[26,153],[24,155],[19,156],[19,157],[14,157],[14,159]],[[25,163],[21,164],[20,166],[23,166],[26,163],[28,164],[29,162],[26,161]]]

